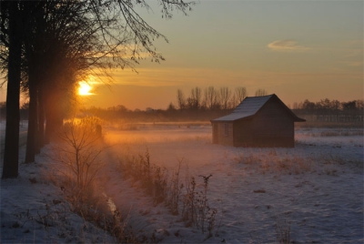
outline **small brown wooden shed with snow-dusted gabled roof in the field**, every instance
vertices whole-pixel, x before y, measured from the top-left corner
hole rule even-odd
[[[234,147],[295,147],[297,117],[275,94],[246,97],[225,117],[211,120],[212,141]]]

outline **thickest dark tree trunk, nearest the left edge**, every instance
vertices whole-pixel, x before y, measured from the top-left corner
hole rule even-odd
[[[5,152],[2,178],[17,177],[19,160],[22,25],[17,2],[11,2],[9,5],[9,63],[7,67]]]

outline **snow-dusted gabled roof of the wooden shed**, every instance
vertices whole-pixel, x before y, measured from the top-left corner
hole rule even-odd
[[[278,102],[282,105],[284,109],[288,110],[288,113],[294,117],[294,121],[306,121],[303,118],[297,117],[275,94],[262,96],[262,97],[246,97],[234,111],[224,117],[218,117],[216,119],[211,120],[211,122],[232,122],[242,118],[253,117],[257,114],[258,110],[263,107],[269,99],[272,97],[276,97]]]

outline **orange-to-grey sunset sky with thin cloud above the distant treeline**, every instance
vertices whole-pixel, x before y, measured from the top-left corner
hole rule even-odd
[[[200,0],[171,20],[148,3],[153,11],[139,13],[167,36],[155,43],[166,61],[115,70],[84,106],[165,109],[195,86],[263,88],[288,106],[363,98],[363,1]]]

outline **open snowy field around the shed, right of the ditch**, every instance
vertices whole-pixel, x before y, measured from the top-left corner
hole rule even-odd
[[[183,159],[200,184],[198,176],[212,175],[208,202],[217,208],[218,227],[209,239],[163,204],[154,206],[136,182],[110,178],[106,192],[116,207],[130,211],[133,228],[157,230],[162,243],[275,242],[278,229],[289,229],[300,243],[363,241],[361,129],[299,128],[295,148],[212,145],[211,127],[204,125],[110,129],[106,141],[119,143],[114,156],[148,150],[152,164],[169,170]]]

